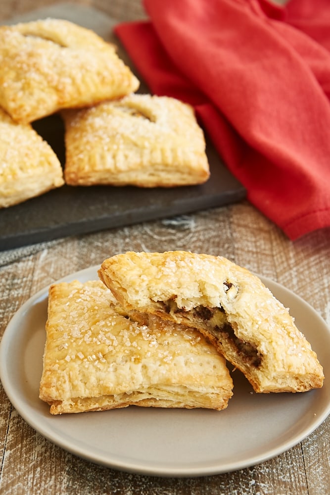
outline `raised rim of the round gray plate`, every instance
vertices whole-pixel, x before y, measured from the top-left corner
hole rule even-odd
[[[104,456],[99,455],[93,452],[92,453],[86,451],[86,448],[81,448],[77,445],[72,444],[70,440],[67,440],[65,438],[61,438],[60,436],[56,434],[52,434],[51,432],[47,431],[45,433],[45,429],[40,428],[40,425],[38,424],[38,417],[37,418],[31,418],[29,414],[27,414],[23,408],[23,401],[21,402],[19,398],[15,396],[14,393],[10,390],[10,387],[8,386],[8,383],[10,383],[10,377],[7,374],[7,360],[4,359],[5,356],[5,349],[6,347],[10,344],[10,329],[15,326],[16,320],[20,320],[22,316],[26,312],[32,309],[34,305],[38,302],[42,302],[48,297],[48,289],[52,284],[55,283],[60,283],[60,282],[68,282],[72,281],[74,279],[86,279],[86,276],[89,276],[89,280],[91,280],[92,275],[95,277],[97,280],[97,270],[99,269],[100,265],[92,265],[87,268],[84,268],[82,270],[78,270],[76,272],[72,272],[68,275],[65,275],[64,277],[61,277],[60,279],[48,284],[44,288],[40,289],[36,294],[33,296],[29,297],[19,308],[18,310],[14,313],[12,318],[9,320],[3,335],[2,339],[0,341],[0,381],[2,383],[2,387],[12,403],[13,407],[15,410],[18,412],[18,414],[38,433],[40,433],[43,437],[45,437],[47,440],[52,442],[53,444],[63,448],[64,450],[67,450],[68,452],[71,452],[72,454],[86,459],[90,462],[93,462],[94,464],[99,464],[103,465],[112,469],[124,471],[124,472],[131,472],[135,474],[142,474],[142,475],[148,475],[148,476],[161,476],[161,477],[198,477],[198,476],[209,476],[209,475],[217,475],[217,474],[223,474],[223,473],[229,473],[233,472],[239,469],[244,469],[247,467],[251,467],[253,465],[260,464],[262,462],[265,462],[269,459],[272,459],[276,457],[277,455],[282,454],[283,452],[289,450],[290,448],[298,445],[300,442],[305,440],[311,433],[313,433],[328,417],[330,414],[330,399],[323,407],[323,412],[319,414],[313,421],[310,421],[310,424],[308,427],[305,427],[302,432],[296,433],[292,437],[290,437],[286,442],[282,442],[279,446],[273,447],[269,450],[266,450],[265,453],[257,453],[254,456],[249,456],[245,460],[241,460],[238,462],[229,462],[229,463],[216,463],[213,461],[212,463],[210,462],[207,466],[201,466],[201,467],[178,467],[174,468],[173,466],[170,468],[167,468],[166,466],[164,467],[159,467],[157,465],[155,466],[146,466],[146,465],[141,465],[141,463],[138,463],[137,461],[135,462],[122,462],[115,460],[115,458],[111,459],[105,459]],[[330,329],[327,326],[327,323],[325,320],[321,317],[321,315],[311,306],[307,301],[305,301],[302,297],[298,296],[291,290],[287,289],[284,287],[282,284],[279,282],[276,282],[268,277],[262,276],[260,274],[257,275],[261,281],[268,287],[268,284],[271,286],[273,285],[274,287],[278,288],[280,291],[286,293],[288,296],[296,298],[297,302],[299,304],[302,304],[303,306],[306,307],[308,311],[310,311],[313,316],[318,320],[318,322],[321,324],[323,327],[323,330],[329,334],[330,338]],[[87,280],[87,279],[86,279]],[[272,289],[271,289],[272,291]]]

